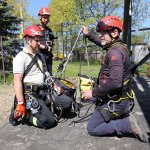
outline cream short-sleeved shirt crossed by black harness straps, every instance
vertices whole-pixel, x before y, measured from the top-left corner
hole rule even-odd
[[[30,54],[31,55],[31,54]],[[26,48],[19,52],[13,59],[13,73],[23,74],[27,66],[30,64],[32,57]],[[34,56],[34,55],[33,55]],[[38,64],[43,72],[42,61],[38,58]],[[33,65],[29,73],[25,76],[23,83],[32,83],[36,85],[42,85],[44,83],[44,74],[37,67],[36,64]]]

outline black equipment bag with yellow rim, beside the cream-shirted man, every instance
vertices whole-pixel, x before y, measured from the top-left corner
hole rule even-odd
[[[72,107],[76,110],[76,86],[65,79],[61,78],[52,78],[47,80],[48,92],[47,92],[47,101],[50,103],[51,111],[55,115],[55,119],[59,120],[62,113],[66,110],[70,111]],[[59,104],[61,99],[66,99],[70,101],[69,108]],[[46,103],[48,103],[46,101]]]

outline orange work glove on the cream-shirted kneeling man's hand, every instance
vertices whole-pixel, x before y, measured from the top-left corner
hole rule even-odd
[[[19,119],[19,118],[24,118],[24,116],[25,116],[25,103],[24,101],[21,102],[18,101],[14,112],[14,117],[16,119]]]

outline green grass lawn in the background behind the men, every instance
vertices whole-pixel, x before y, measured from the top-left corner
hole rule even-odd
[[[56,72],[60,63],[61,63],[61,61],[53,62],[53,74]],[[148,70],[148,65],[149,64],[143,64],[143,65],[139,66],[137,68],[136,72],[138,74],[146,75],[147,70]],[[66,79],[68,79],[70,77],[76,78],[78,76],[78,73],[92,76],[92,77],[97,77],[100,67],[101,67],[101,65],[100,65],[100,62],[98,62],[98,61],[90,62],[89,67],[88,67],[87,62],[82,62],[81,63],[81,72],[80,72],[80,63],[79,62],[68,62],[66,65],[66,70],[63,73],[62,77],[66,78]],[[6,82],[5,83],[3,81],[2,74],[0,74],[0,85],[2,85],[2,84],[10,85],[12,83],[13,83],[13,74],[12,73],[6,74]]]

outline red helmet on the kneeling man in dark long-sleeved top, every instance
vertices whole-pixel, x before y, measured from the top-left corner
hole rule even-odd
[[[109,31],[113,28],[118,28],[120,31],[123,31],[122,21],[116,16],[106,16],[97,24],[96,31]]]

